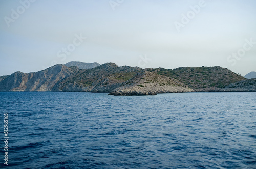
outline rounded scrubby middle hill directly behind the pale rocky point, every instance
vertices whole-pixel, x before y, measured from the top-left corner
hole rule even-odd
[[[105,63],[92,69],[81,69],[56,85],[55,91],[111,92],[142,69]]]

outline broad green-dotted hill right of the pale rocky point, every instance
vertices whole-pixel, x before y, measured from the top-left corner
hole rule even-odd
[[[157,68],[148,69],[148,71],[178,79],[196,91],[216,90],[216,88],[224,88],[231,83],[245,79],[241,75],[220,66],[181,67],[173,70]]]

